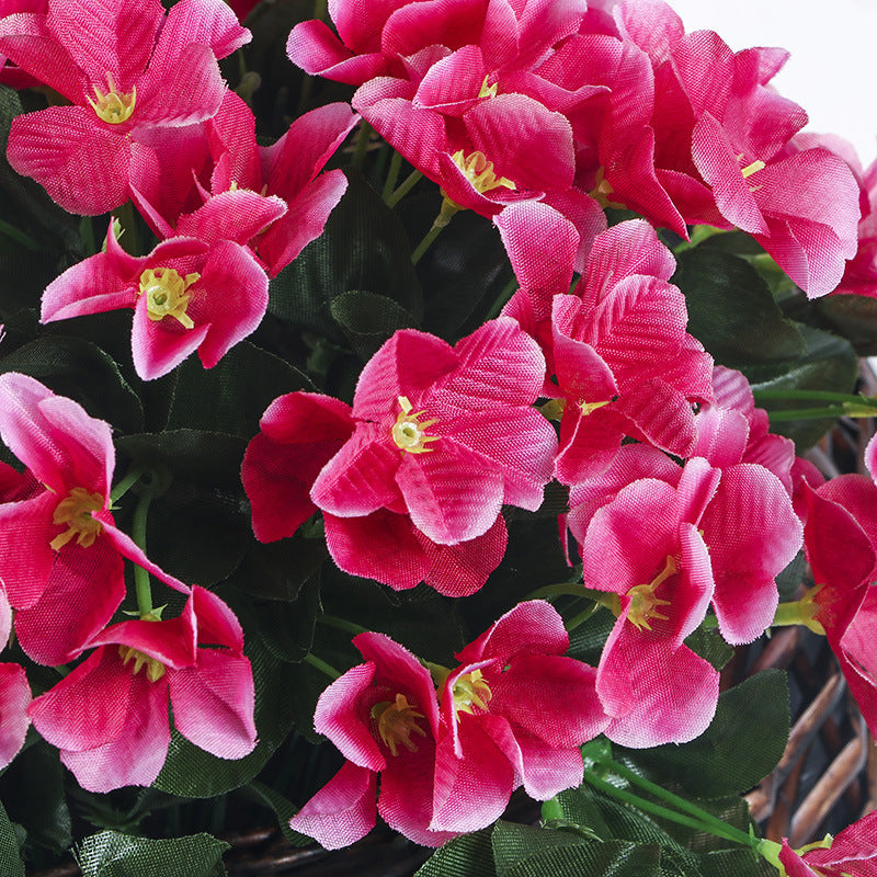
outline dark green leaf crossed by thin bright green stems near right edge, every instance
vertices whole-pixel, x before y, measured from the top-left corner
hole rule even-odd
[[[752,367],[743,368],[743,373],[753,391],[759,390],[831,390],[833,392],[851,394],[858,376],[858,358],[848,341],[813,329],[801,326],[801,335],[807,344],[807,354],[788,368],[777,374],[774,368]],[[788,411],[810,407],[800,399],[760,401],[759,405],[767,410]],[[817,402],[813,407],[824,405]],[[816,420],[772,421],[771,431],[786,435],[797,445],[798,453],[812,447],[833,425],[836,417],[829,415]]]

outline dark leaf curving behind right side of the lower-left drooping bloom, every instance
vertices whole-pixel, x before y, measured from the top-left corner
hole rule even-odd
[[[244,629],[252,629],[246,618],[241,620]],[[156,788],[185,798],[213,798],[230,791],[252,781],[286,739],[294,718],[291,698],[296,679],[294,665],[275,658],[258,637],[247,637],[243,650],[252,663],[255,684],[255,729],[259,734],[255,749],[237,761],[219,759],[190,743],[174,730],[168,760],[153,783]]]

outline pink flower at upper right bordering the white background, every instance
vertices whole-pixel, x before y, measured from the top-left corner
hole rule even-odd
[[[788,53],[732,53],[711,31],[683,35],[663,3],[624,2],[617,19],[654,68],[651,118],[637,135],[650,141],[642,159],[659,183],[649,196],[663,189],[685,223],[750,232],[811,298],[831,292],[856,251],[858,187],[840,157],[790,143],[807,114],[768,86]],[[634,134],[620,125],[623,139]],[[607,169],[616,192],[624,173]]]

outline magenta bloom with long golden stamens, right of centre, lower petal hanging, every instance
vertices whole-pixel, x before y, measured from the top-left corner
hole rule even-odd
[[[719,472],[690,462],[679,487],[641,478],[599,509],[581,542],[585,588],[616,594],[618,619],[600,659],[596,691],[622,745],[685,742],[716,710],[719,677],[683,643],[715,589],[698,524]]]

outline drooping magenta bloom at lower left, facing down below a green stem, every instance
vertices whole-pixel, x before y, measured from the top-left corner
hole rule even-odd
[[[30,708],[39,733],[90,791],[149,786],[173,724],[196,747],[240,759],[255,745],[253,681],[237,618],[195,585],[179,618],[106,628],[99,648]]]

